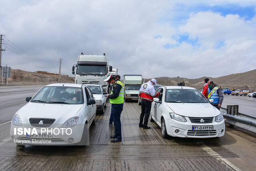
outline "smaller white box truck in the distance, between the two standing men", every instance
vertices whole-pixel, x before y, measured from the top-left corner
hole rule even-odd
[[[124,75],[124,99],[138,100],[138,93],[142,84],[141,75]]]

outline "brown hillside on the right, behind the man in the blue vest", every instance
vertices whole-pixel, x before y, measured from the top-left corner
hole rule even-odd
[[[188,79],[188,78],[169,78],[169,77],[159,77],[155,78],[157,84],[162,85],[177,85],[180,82],[185,82],[186,86],[194,87],[196,89],[201,90],[204,84],[204,78],[209,78],[213,80],[214,84],[217,84],[223,88],[234,88],[234,89],[249,89],[250,92],[255,91],[255,82],[256,82],[256,70],[231,74],[228,76],[221,76],[218,78],[210,78],[210,77],[202,77],[196,79]],[[147,82],[150,79],[146,79]]]

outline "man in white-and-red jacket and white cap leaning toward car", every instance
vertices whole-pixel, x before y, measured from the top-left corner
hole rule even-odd
[[[139,96],[141,99],[141,114],[139,127],[143,127],[143,129],[150,129],[148,126],[148,117],[150,115],[151,104],[153,102],[153,98],[158,97],[158,95],[161,94],[156,93],[154,85],[156,85],[156,79],[152,78],[140,87]]]

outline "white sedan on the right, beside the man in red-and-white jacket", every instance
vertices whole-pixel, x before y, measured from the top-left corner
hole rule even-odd
[[[220,111],[192,87],[165,86],[157,89],[161,97],[154,98],[150,121],[161,127],[162,137],[210,138],[222,137],[224,117]]]

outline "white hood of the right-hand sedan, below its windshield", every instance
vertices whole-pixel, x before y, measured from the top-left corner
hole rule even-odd
[[[210,103],[166,103],[174,113],[188,117],[214,117],[220,111]]]

